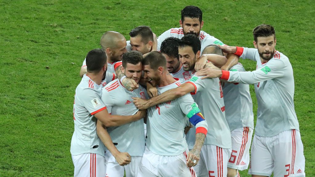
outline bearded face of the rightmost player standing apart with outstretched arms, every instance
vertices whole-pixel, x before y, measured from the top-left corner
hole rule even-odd
[[[262,60],[270,60],[275,52],[277,40],[273,35],[268,37],[257,37],[257,42],[254,41],[254,46],[258,49],[259,56]]]

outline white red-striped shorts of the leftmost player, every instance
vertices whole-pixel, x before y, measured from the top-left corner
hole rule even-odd
[[[104,177],[105,157],[99,154],[85,153],[72,155],[74,177]]]

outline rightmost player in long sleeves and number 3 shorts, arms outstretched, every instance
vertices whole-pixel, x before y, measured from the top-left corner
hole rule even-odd
[[[294,110],[294,78],[287,56],[275,50],[276,36],[270,25],[253,30],[254,47],[222,47],[226,53],[257,62],[255,71],[202,69],[198,75],[221,77],[229,82],[254,84],[257,97],[257,122],[249,174],[253,177],[305,176],[305,157]]]

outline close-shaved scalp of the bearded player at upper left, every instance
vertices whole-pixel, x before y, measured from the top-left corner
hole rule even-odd
[[[107,48],[116,48],[118,42],[123,42],[125,40],[126,38],[119,32],[107,31],[100,38],[100,45],[102,46],[102,49],[106,51]]]

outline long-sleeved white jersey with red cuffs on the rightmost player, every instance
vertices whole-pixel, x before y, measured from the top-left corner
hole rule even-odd
[[[241,58],[257,61],[255,71],[222,71],[222,79],[254,84],[257,97],[255,134],[272,137],[290,129],[299,130],[294,110],[294,78],[289,58],[276,51],[267,63],[261,63],[257,49],[238,47]]]

